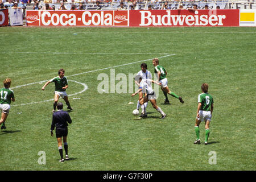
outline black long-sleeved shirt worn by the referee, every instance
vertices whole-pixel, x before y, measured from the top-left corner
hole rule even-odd
[[[58,110],[52,114],[52,126],[51,130],[54,130],[55,126],[65,128],[68,126],[68,123],[72,123],[71,117],[67,111]]]

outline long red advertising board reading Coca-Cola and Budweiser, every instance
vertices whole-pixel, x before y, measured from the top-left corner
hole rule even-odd
[[[27,26],[240,26],[240,10],[27,10]]]

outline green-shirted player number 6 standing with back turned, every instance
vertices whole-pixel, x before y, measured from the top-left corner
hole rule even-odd
[[[200,130],[199,125],[201,121],[205,121],[205,141],[204,144],[208,144],[208,138],[210,134],[210,119],[213,112],[213,97],[208,93],[209,85],[204,83],[201,85],[203,93],[198,96],[198,106],[196,112],[196,140],[194,144],[200,144]]]

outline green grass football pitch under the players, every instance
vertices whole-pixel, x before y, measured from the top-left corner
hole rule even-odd
[[[1,170],[255,170],[256,28],[1,27],[0,35],[0,84],[10,77],[16,100],[0,131]],[[148,103],[148,117],[136,119],[130,75],[141,63],[153,74],[154,57],[184,104],[168,96],[164,105],[158,88],[167,117]],[[50,133],[55,86],[41,89],[60,68],[73,107],[64,163]],[[214,99],[207,146],[193,144],[203,82]]]

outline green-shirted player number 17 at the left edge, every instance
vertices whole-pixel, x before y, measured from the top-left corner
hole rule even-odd
[[[3,81],[3,85],[5,88],[0,89],[0,109],[2,111],[0,125],[2,124],[1,129],[6,129],[5,121],[9,114],[9,110],[11,109],[11,101],[14,102],[15,98],[13,90],[9,89],[11,86],[11,79],[6,78]]]

